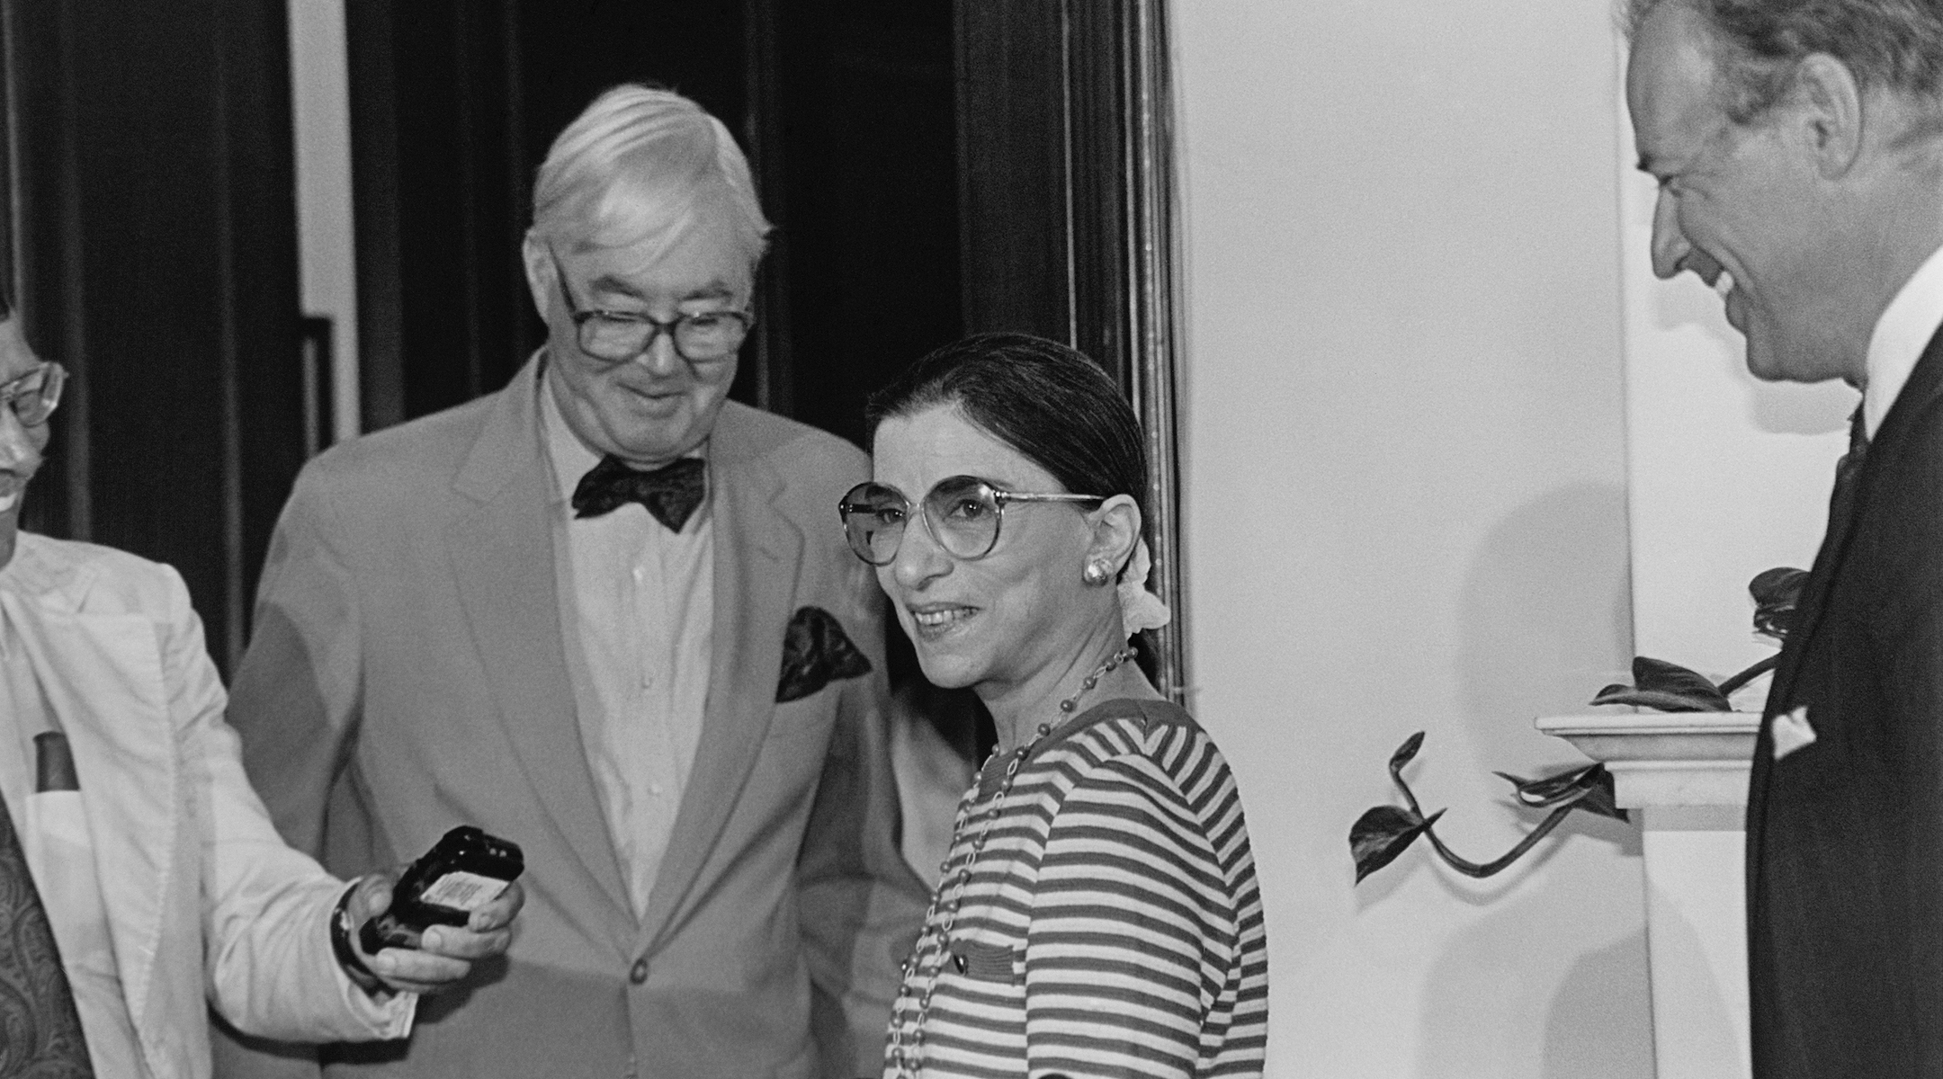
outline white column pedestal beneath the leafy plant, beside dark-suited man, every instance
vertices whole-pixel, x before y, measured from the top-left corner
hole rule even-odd
[[[1659,1079],[1749,1075],[1743,827],[1758,726],[1747,712],[1537,720],[1605,763],[1640,825]]]

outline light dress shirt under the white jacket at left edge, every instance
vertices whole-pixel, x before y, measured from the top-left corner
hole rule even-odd
[[[0,567],[0,588],[14,588],[16,563]],[[39,675],[0,607],[0,792],[41,893],[60,966],[74,990],[87,1056],[101,1077],[146,1079],[142,1048],[128,1017],[109,916],[101,902],[95,844],[78,790],[37,792],[33,736],[60,730],[47,710]],[[85,782],[87,776],[82,776]]]

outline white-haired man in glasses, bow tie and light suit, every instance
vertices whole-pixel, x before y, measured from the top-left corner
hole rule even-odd
[[[832,524],[867,460],[727,400],[766,231],[719,120],[604,93],[534,184],[546,345],[297,479],[229,708],[278,827],[340,871],[527,852],[501,976],[332,1073],[878,1069],[925,889]]]

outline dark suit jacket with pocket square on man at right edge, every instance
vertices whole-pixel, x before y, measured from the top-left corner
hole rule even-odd
[[[1943,1077],[1943,334],[1795,619],[1747,805],[1755,1075]],[[1776,761],[1795,708],[1817,737]]]

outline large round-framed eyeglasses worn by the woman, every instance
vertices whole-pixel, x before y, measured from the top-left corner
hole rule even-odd
[[[925,495],[925,528],[931,538],[958,559],[983,559],[999,545],[999,526],[1005,524],[1006,503],[1102,503],[1106,495],[1067,495],[1040,491],[1003,491],[975,475],[940,479]],[[911,518],[911,503],[903,491],[886,483],[859,483],[837,503],[843,516],[843,536],[859,559],[888,567],[903,545],[903,526]]]

